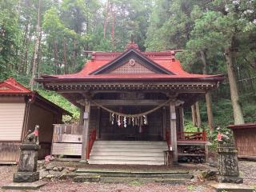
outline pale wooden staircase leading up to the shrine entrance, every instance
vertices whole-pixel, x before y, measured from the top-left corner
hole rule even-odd
[[[90,164],[163,165],[166,142],[96,141]]]

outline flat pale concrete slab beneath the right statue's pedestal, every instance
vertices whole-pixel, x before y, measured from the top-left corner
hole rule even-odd
[[[228,192],[254,192],[254,188],[246,186],[244,184],[235,183],[213,183],[210,186],[214,187],[217,192],[228,191]]]

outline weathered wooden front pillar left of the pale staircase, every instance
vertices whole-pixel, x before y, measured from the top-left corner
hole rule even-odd
[[[85,111],[83,114],[82,127],[82,156],[81,162],[86,162],[87,141],[89,136],[89,122],[90,122],[90,95],[85,95]]]

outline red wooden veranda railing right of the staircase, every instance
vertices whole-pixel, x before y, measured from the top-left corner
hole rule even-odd
[[[178,142],[206,142],[206,131],[202,132],[178,132]]]

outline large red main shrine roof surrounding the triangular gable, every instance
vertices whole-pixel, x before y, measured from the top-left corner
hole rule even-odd
[[[122,58],[122,55],[126,54],[129,50],[134,50],[135,53],[139,54],[143,58],[146,58],[150,62],[154,62],[156,65],[164,70],[170,71],[170,74],[93,74],[95,71],[108,66],[113,61],[118,61]],[[42,75],[45,79],[91,79],[91,80],[135,80],[135,79],[158,79],[158,80],[174,80],[182,78],[184,79],[211,79],[220,80],[223,78],[222,75],[206,75],[206,74],[189,74],[182,69],[180,62],[175,56],[174,50],[166,51],[146,51],[141,52],[138,50],[138,46],[134,42],[130,42],[126,46],[125,52],[92,52],[91,60],[87,61],[83,69],[75,74],[62,74],[62,75]],[[40,80],[39,80],[40,81]]]

